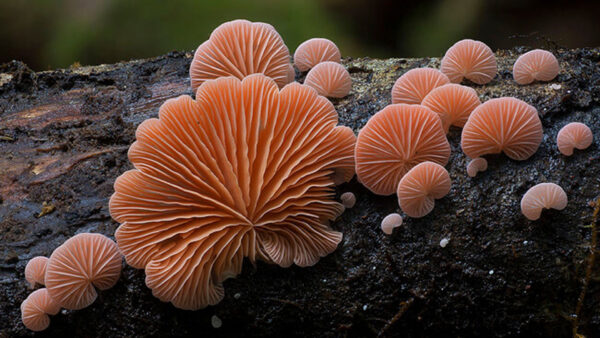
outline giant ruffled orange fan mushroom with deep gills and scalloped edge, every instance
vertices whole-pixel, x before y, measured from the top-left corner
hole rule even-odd
[[[245,257],[311,266],[337,247],[344,210],[334,176],[354,172],[356,137],[331,102],[261,74],[207,81],[167,100],[137,129],[135,169],[115,182],[110,213],[127,263],[155,297],[182,309],[218,303]]]

